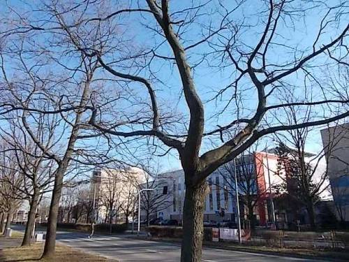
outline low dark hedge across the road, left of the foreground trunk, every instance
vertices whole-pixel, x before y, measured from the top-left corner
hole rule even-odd
[[[47,226],[47,223],[41,223],[40,226]],[[74,223],[57,223],[57,228],[75,230],[80,232],[91,232],[91,224],[74,224]],[[94,226],[96,232],[109,233],[110,224],[96,224]],[[126,224],[112,224],[112,233],[123,233],[127,230]]]

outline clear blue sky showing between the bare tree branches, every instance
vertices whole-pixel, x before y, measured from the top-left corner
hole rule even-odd
[[[121,1],[122,2],[122,1]],[[198,1],[199,3],[200,1]],[[297,2],[297,1],[296,1]],[[338,3],[339,1],[331,1],[331,4]],[[29,8],[26,7],[27,3],[38,3],[38,1],[20,1],[13,0],[8,1],[15,8]],[[26,4],[24,4],[26,3]],[[141,6],[144,6],[144,1],[139,1]],[[170,1],[170,10],[174,13],[176,10],[181,10],[182,8],[186,8],[186,6],[190,5],[191,1]],[[201,3],[205,3],[205,1],[201,1]],[[200,35],[202,24],[209,24],[211,22],[211,26],[216,28],[218,26],[219,17],[221,14],[218,12],[218,2],[213,1],[214,4],[209,6],[209,8],[205,9],[205,12],[202,10],[202,16],[195,20],[194,24],[191,24],[191,27],[188,27],[187,31],[183,34],[183,37],[187,40],[184,43],[185,46],[191,45],[191,43],[195,43],[195,41],[199,41],[202,39]],[[225,8],[231,8],[233,1],[223,1],[225,3]],[[302,2],[304,3],[304,1]],[[196,1],[195,1],[196,4]],[[306,5],[306,3],[304,3]],[[134,2],[134,5],[137,6],[137,3]],[[115,6],[112,6],[115,8]],[[248,27],[242,30],[242,34],[239,36],[241,40],[241,44],[243,43],[245,46],[242,48],[246,48],[247,46],[255,46],[256,40],[260,38],[262,33],[262,29],[264,28],[263,24],[265,23],[266,16],[265,15],[256,15],[255,13],[260,10],[265,10],[265,3],[263,1],[246,1],[246,4],[243,8],[239,8],[232,13],[230,16],[232,20],[235,21],[236,24],[242,23],[245,16],[245,22],[248,23]],[[112,11],[112,10],[110,10]],[[222,9],[221,9],[222,11]],[[1,11],[0,11],[1,12]],[[4,12],[4,10],[2,11]],[[276,36],[276,40],[279,44],[288,44],[297,48],[298,50],[306,50],[307,52],[311,52],[313,40],[316,38],[317,30],[320,27],[321,17],[325,15],[325,11],[318,10],[309,10],[305,17],[297,17],[295,20],[290,20],[288,17],[285,17],[285,20],[281,22],[279,27],[279,35]],[[30,13],[32,18],[36,18],[36,16],[43,15],[42,13]],[[141,48],[151,48],[152,46],[156,46],[158,43],[163,41],[161,36],[154,34],[153,31],[147,29],[145,26],[153,26],[154,25],[154,17],[151,15],[139,15],[137,13],[131,15],[121,16],[122,20],[114,20],[114,22],[122,22],[120,24],[120,31],[122,35],[120,38],[133,39],[133,46],[129,46],[130,50],[133,48],[135,50],[140,50]],[[67,16],[67,19],[69,17]],[[179,19],[179,18],[178,18]],[[331,38],[336,36],[340,29],[343,29],[343,24],[348,22],[348,19],[343,19],[338,21],[339,30],[335,30],[334,27],[329,27],[331,30],[327,30],[327,34],[321,35],[318,41],[317,47],[320,47],[322,44],[327,43]],[[336,25],[335,22],[332,22],[332,25]],[[207,29],[203,29],[204,33],[207,34]],[[47,37],[47,38],[46,38]],[[45,45],[47,39],[51,36],[47,34],[46,36],[42,36],[42,38],[36,38],[38,43]],[[222,37],[215,36],[212,40],[218,41],[222,40]],[[40,43],[41,42],[41,43]],[[128,42],[130,43],[130,42]],[[54,48],[52,48],[54,50]],[[199,45],[197,48],[193,48],[192,50],[187,52],[188,60],[191,65],[195,64],[196,61],[199,61],[202,57],[202,54],[206,54],[209,52],[211,48],[207,44]],[[271,64],[281,64],[285,59],[289,59],[292,54],[288,54],[288,48],[285,48],[282,45],[274,45],[273,48],[269,49],[268,52],[268,61]],[[158,48],[158,54],[164,56],[172,56],[171,50],[168,48],[168,45],[161,45],[161,48]],[[115,56],[117,56],[117,52],[115,52]],[[299,51],[297,51],[299,54]],[[112,55],[105,56],[105,61],[112,61],[114,57]],[[71,59],[68,61],[68,58],[63,58],[62,60],[64,64],[73,65],[76,64],[77,60]],[[209,63],[207,61],[202,62],[199,66],[195,68],[194,71],[194,81],[198,93],[202,97],[202,100],[205,101],[205,117],[206,117],[206,125],[205,131],[210,131],[216,127],[217,124],[223,125],[227,124],[237,117],[237,108],[234,103],[230,104],[228,108],[220,114],[218,117],[211,118],[212,115],[215,115],[220,109],[225,106],[226,101],[230,99],[233,94],[233,90],[230,89],[228,92],[224,93],[223,103],[221,101],[211,101],[206,102],[211,99],[213,92],[218,92],[222,87],[227,86],[232,80],[235,79],[235,71],[233,67],[230,65],[226,65],[225,68],[215,67],[219,64],[219,59],[215,59],[214,57],[209,57]],[[325,63],[326,58],[320,57],[318,59],[318,64],[322,62]],[[122,68],[119,66],[118,68]],[[165,62],[161,59],[156,59],[154,63],[151,64],[151,71],[155,72],[157,80],[153,79],[154,87],[156,89],[156,93],[158,99],[161,103],[161,110],[163,112],[175,112],[176,114],[183,115],[183,119],[188,118],[188,110],[186,107],[186,103],[184,101],[183,96],[181,96],[181,83],[179,81],[179,75],[177,73],[177,69],[173,66],[171,62]],[[52,68],[53,71],[59,72],[60,68]],[[122,69],[120,69],[122,70]],[[312,68],[315,73],[320,74],[322,68]],[[126,70],[125,73],[131,71]],[[133,72],[134,73],[134,72]],[[101,75],[105,75],[104,73]],[[144,77],[149,77],[149,68],[144,68],[144,70],[140,71],[140,75]],[[304,75],[302,73],[294,74],[290,78],[288,78],[288,82],[292,82],[292,85],[295,85],[295,96],[302,96],[302,85],[303,85]],[[244,99],[244,110],[240,112],[244,114],[246,117],[251,116],[254,112],[255,104],[256,104],[256,96],[254,89],[250,89],[252,87],[251,81],[244,79],[240,85],[242,92],[242,99]],[[108,89],[111,87],[108,87]],[[144,88],[139,85],[134,85],[132,87],[133,92],[137,92],[137,95],[142,97],[147,97],[147,92]],[[110,89],[112,90],[112,89]],[[112,94],[111,94],[112,95]],[[320,97],[320,93],[317,93],[317,90],[314,89],[312,92],[314,97]],[[269,100],[269,104],[272,104],[278,101],[278,97],[271,98]],[[128,105],[121,103],[121,108],[125,112],[127,110],[131,110],[133,107],[128,107]],[[316,109],[315,109],[316,110]],[[185,127],[183,125],[178,126],[178,130],[184,131]],[[268,139],[268,138],[266,138]],[[311,140],[308,142],[309,151],[318,151],[321,149],[322,145],[320,143],[320,133],[319,131],[313,131],[313,135],[311,136]],[[215,143],[218,143],[215,139]],[[90,145],[93,145],[94,142],[87,142]],[[260,143],[264,145],[265,143]],[[205,143],[202,147],[202,152],[209,150],[212,147],[211,142],[205,140]],[[180,163],[178,160],[177,154],[174,150],[171,151],[171,154],[168,154],[165,157],[158,158],[160,162],[161,168],[163,170],[172,170],[180,168]]]

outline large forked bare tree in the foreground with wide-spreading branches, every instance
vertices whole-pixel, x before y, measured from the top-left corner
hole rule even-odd
[[[172,8],[168,0],[119,1],[116,6],[102,0],[64,1],[36,8],[35,20],[26,17],[25,23],[24,12],[14,12],[2,35],[59,36],[78,30],[64,43],[79,43],[75,50],[97,59],[106,78],[117,80],[124,92],[101,87],[109,94],[107,103],[96,99],[91,105],[89,124],[95,131],[84,137],[109,141],[113,136],[128,145],[141,138],[161,154],[177,150],[186,179],[181,261],[200,261],[209,174],[269,133],[349,116],[348,95],[322,85],[319,71],[324,64],[329,70],[347,66],[347,9],[341,2],[300,0],[188,1]],[[105,48],[89,43],[103,29]],[[275,103],[288,89],[295,101]],[[174,95],[179,102],[169,105]],[[273,112],[296,105],[312,105],[314,118],[301,124],[274,119]],[[325,115],[315,114],[323,109]]]

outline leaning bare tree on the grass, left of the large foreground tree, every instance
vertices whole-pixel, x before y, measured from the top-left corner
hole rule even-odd
[[[54,41],[57,41],[57,43],[59,41],[65,42],[70,37],[72,36],[66,33],[64,36],[61,35],[60,39],[56,38]],[[52,45],[55,44],[52,43]],[[61,75],[61,78],[54,78],[50,73],[47,75],[45,71],[46,64],[41,64],[40,59],[51,59],[54,62],[57,57],[46,57],[47,52],[43,54],[38,51],[37,60],[33,61],[32,57],[24,55],[25,49],[28,48],[24,46],[24,43],[20,46],[12,43],[8,48],[13,48],[15,59],[12,59],[11,63],[19,67],[20,73],[15,75],[15,78],[10,78],[8,68],[6,68],[6,65],[8,65],[7,53],[5,51],[1,52],[1,72],[4,80],[2,90],[6,92],[5,100],[2,101],[3,107],[10,107],[10,109],[6,109],[6,113],[14,110],[19,112],[21,124],[28,137],[45,155],[45,159],[51,159],[56,163],[56,168],[53,170],[52,201],[43,253],[44,257],[51,257],[54,255],[57,215],[64,175],[68,172],[72,159],[75,162],[89,164],[89,161],[83,157],[84,150],[87,152],[87,156],[91,155],[88,154],[89,147],[84,146],[84,149],[78,150],[75,143],[77,143],[82,124],[87,122],[83,115],[86,110],[85,106],[90,99],[90,85],[96,70],[96,61],[82,55],[79,57],[80,68],[75,68],[70,73],[70,68],[62,66],[64,69],[61,73],[66,73],[66,75]],[[48,53],[50,54],[50,52]],[[31,63],[34,66],[29,67]],[[77,72],[79,72],[78,77],[75,74]],[[74,78],[78,78],[78,80]],[[41,139],[43,137],[36,132],[36,126],[40,123],[38,119],[44,119],[43,121],[46,124],[44,126],[51,126],[52,123],[56,127],[52,136],[48,136],[47,130],[44,129],[43,131],[46,132],[45,139]],[[47,147],[47,139],[52,140],[49,147]]]

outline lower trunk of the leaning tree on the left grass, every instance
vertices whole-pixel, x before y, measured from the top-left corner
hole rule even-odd
[[[52,198],[50,204],[50,212],[47,221],[47,231],[45,247],[43,251],[42,258],[50,259],[54,256],[54,247],[56,245],[56,230],[57,230],[57,217],[59,210],[59,200],[61,199],[61,191],[63,184],[63,177],[66,168],[61,168],[57,172],[56,178],[54,180],[54,189],[52,191]]]

